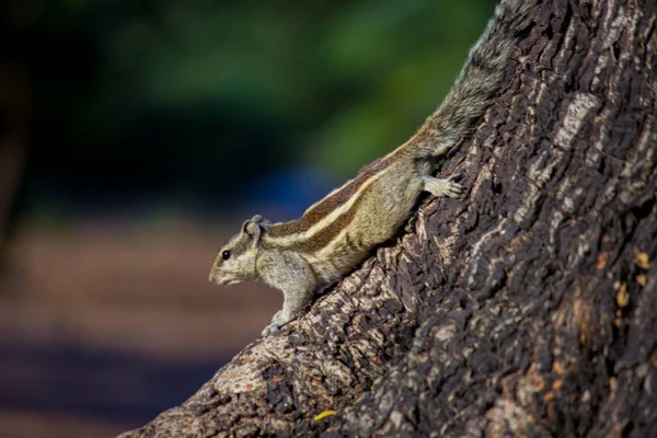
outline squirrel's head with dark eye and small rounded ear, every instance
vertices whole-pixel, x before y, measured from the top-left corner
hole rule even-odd
[[[246,220],[242,230],[219,250],[210,269],[210,281],[230,286],[256,276],[255,257],[263,223],[263,217],[260,215]]]

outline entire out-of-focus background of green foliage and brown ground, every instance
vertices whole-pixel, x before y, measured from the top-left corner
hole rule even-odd
[[[180,404],[280,307],[207,281],[405,141],[493,0],[5,0],[0,435],[103,437]]]

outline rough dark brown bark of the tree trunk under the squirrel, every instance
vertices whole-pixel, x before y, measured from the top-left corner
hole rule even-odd
[[[123,437],[657,436],[656,24],[545,1],[466,196]]]

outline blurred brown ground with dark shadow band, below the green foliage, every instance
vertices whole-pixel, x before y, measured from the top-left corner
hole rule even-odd
[[[164,217],[21,228],[1,278],[2,436],[113,436],[258,337],[279,293],[209,284],[221,227]]]

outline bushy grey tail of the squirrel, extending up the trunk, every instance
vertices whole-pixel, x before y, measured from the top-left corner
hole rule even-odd
[[[484,114],[499,90],[514,45],[533,21],[539,0],[502,0],[438,110],[412,139],[416,153],[441,155]]]

